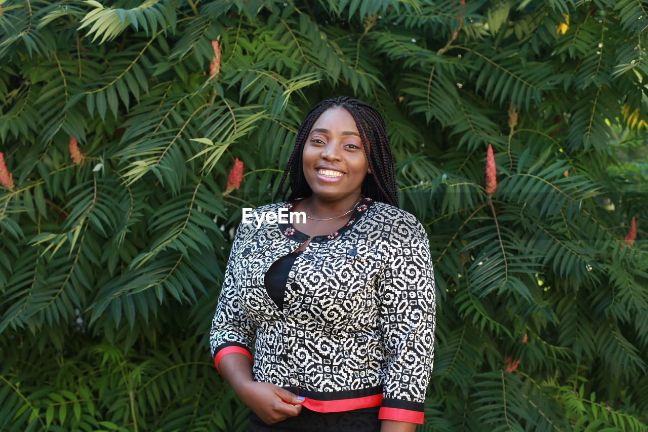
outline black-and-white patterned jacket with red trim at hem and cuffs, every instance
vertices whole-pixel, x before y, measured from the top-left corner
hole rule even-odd
[[[288,214],[303,199],[253,213]],[[251,220],[238,226],[214,315],[216,368],[238,352],[253,361],[255,381],[305,396],[313,411],[380,405],[380,419],[422,424],[435,286],[421,222],[362,198],[343,228],[313,237],[295,259],[280,310],[264,275],[309,237],[284,221]]]

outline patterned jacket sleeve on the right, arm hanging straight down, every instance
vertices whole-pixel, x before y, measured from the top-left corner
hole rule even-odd
[[[387,372],[380,420],[422,424],[434,359],[436,294],[430,243],[407,213],[390,237],[391,256],[379,283]]]

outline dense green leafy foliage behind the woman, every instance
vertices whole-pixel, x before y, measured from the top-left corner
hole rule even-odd
[[[245,430],[207,348],[222,269],[334,95],[384,113],[428,229],[420,429],[648,429],[647,2],[0,5],[0,430]]]

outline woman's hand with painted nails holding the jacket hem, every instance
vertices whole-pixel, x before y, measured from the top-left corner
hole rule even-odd
[[[240,389],[238,397],[266,424],[298,415],[301,413],[300,404],[304,402],[303,396],[297,396],[271,383],[257,381],[246,383]]]

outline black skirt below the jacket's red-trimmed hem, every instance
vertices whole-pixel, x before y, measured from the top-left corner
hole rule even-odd
[[[307,407],[301,413],[275,424],[265,424],[255,413],[249,416],[248,432],[305,431],[305,432],[380,432],[380,407],[360,408],[337,413],[318,413]]]

